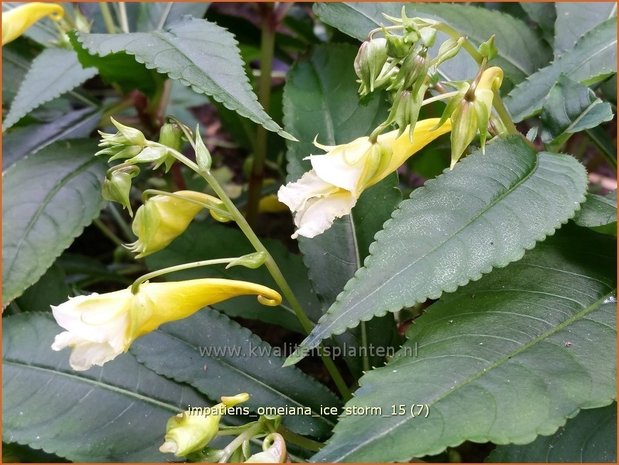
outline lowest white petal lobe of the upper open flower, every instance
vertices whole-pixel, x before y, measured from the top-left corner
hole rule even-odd
[[[349,214],[356,203],[357,197],[343,190],[310,200],[305,208],[295,216],[294,222],[299,229],[292,235],[292,238],[315,237],[325,232],[336,218]]]

